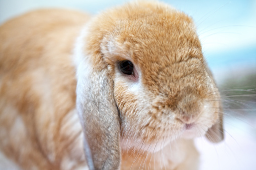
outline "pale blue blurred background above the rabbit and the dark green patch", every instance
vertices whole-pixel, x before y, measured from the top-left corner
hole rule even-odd
[[[69,8],[93,15],[127,1],[112,0],[0,0],[0,23],[39,8]],[[256,72],[256,1],[162,1],[191,16],[197,26],[203,52],[217,82],[225,76]],[[240,64],[240,66],[239,66]],[[243,69],[245,67],[245,69]],[[242,73],[244,72],[244,73]]]

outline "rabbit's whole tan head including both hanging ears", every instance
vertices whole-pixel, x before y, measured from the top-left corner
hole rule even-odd
[[[120,150],[158,151],[179,137],[223,139],[220,95],[191,18],[129,3],[95,17],[75,47],[77,110],[91,169]]]

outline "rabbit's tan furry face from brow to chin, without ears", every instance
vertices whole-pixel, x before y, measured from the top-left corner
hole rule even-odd
[[[193,22],[183,13],[118,21],[101,51],[114,73],[123,148],[158,151],[178,137],[206,133],[218,119],[218,90]],[[122,73],[120,61],[133,63]]]

